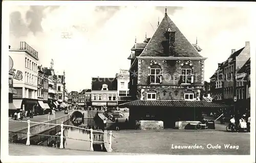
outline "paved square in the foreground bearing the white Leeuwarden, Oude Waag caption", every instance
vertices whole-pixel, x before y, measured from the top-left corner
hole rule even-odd
[[[157,153],[172,155],[249,155],[250,134],[216,130],[113,131],[114,152]],[[202,146],[193,149],[193,146]],[[208,149],[212,146],[212,148]],[[225,149],[229,145],[237,149]],[[173,149],[187,148],[187,149]],[[180,147],[178,147],[180,146]],[[182,146],[182,147],[181,147]],[[192,149],[189,146],[192,146]],[[218,146],[217,149],[216,146]]]

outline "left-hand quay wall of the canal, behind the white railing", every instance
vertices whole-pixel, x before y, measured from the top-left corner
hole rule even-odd
[[[66,122],[70,120],[70,115],[67,114],[61,118],[51,120],[51,121],[46,121],[44,123],[50,123],[50,124],[61,124],[61,122]],[[33,120],[32,120],[33,121]],[[22,123],[22,122],[20,122]],[[53,129],[56,127],[56,125],[48,125],[48,124],[30,124],[30,133],[31,134],[39,134],[42,132],[45,132],[47,130]],[[32,126],[33,125],[33,126]],[[28,128],[20,129],[14,132],[9,133],[9,143],[14,143],[17,141],[22,141],[23,139],[27,138],[27,132]],[[31,135],[33,136],[33,135]]]

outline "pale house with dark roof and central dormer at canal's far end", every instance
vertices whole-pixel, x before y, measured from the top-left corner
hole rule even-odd
[[[113,108],[117,106],[117,79],[92,78],[91,90],[92,107],[97,109]]]

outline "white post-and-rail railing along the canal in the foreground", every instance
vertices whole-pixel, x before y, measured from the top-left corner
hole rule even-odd
[[[90,150],[93,151],[93,142],[96,142],[96,143],[108,143],[109,144],[109,149],[108,151],[109,152],[112,152],[112,131],[110,132],[103,132],[103,131],[97,131],[97,130],[93,130],[92,128],[91,129],[86,129],[86,128],[81,128],[81,127],[76,127],[76,126],[71,126],[71,125],[64,125],[63,122],[61,122],[61,124],[51,124],[51,123],[42,123],[42,122],[32,122],[30,120],[28,121],[14,121],[14,120],[9,120],[9,121],[13,121],[13,122],[20,122],[20,123],[28,123],[28,132],[27,132],[27,142],[26,142],[26,145],[29,146],[30,145],[30,136],[31,135],[41,135],[41,136],[53,136],[53,137],[60,137],[60,146],[59,148],[60,149],[63,149],[63,138],[70,138],[70,139],[76,139],[76,138],[72,138],[72,137],[66,137],[63,135],[63,131],[64,131],[64,127],[73,127],[73,128],[77,128],[77,129],[81,129],[81,130],[86,130],[86,131],[90,131]],[[45,134],[33,134],[33,133],[30,133],[30,123],[34,123],[34,124],[45,124],[45,125],[55,125],[55,126],[60,126],[60,136],[56,136],[56,135],[45,135]],[[103,133],[106,134],[106,135],[109,135],[109,141],[108,142],[104,142],[104,141],[94,141],[93,138],[93,132],[98,132],[98,133]],[[15,132],[15,133],[19,133],[19,132]],[[26,134],[26,133],[25,133]],[[114,136],[113,136],[114,137]],[[76,140],[79,140],[79,141],[87,141],[87,140],[84,140],[84,139],[76,139]]]

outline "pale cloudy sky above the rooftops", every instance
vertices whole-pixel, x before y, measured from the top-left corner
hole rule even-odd
[[[39,65],[56,74],[66,73],[68,91],[91,88],[92,77],[115,77],[119,69],[129,69],[135,37],[143,42],[151,37],[162,20],[165,7],[156,6],[12,6],[9,13],[9,45],[17,49],[26,41],[38,52]],[[205,80],[218,63],[250,41],[247,8],[167,7],[190,43],[198,44],[206,57]],[[69,38],[62,38],[63,32]]]

